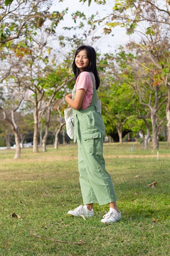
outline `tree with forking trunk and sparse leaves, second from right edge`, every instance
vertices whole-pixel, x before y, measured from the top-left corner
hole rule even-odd
[[[158,126],[162,124],[162,121],[160,122],[159,120],[159,124],[157,123],[157,113],[164,106],[163,104],[167,100],[167,94],[161,84],[154,85],[155,80],[149,68],[150,58],[146,54],[146,51],[139,51],[138,48],[136,49],[134,43],[130,45],[130,49],[136,52],[136,56],[126,54],[124,51],[119,54],[121,57],[121,67],[123,68],[122,73],[125,82],[134,90],[133,105],[135,109],[139,108],[137,117],[143,119],[146,124],[147,139],[149,139],[147,118],[151,119],[152,144],[154,149],[158,149]],[[145,148],[148,148],[148,146],[146,145]]]

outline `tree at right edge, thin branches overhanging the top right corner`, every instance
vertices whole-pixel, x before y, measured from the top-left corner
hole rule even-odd
[[[87,0],[82,1],[86,2]],[[96,0],[95,2],[104,4],[105,1],[98,2]],[[91,4],[91,0],[88,0],[88,4]],[[166,117],[170,143],[170,47],[168,34],[170,29],[170,1],[116,0],[112,10],[107,17],[96,20],[96,22],[106,20],[105,34],[120,26],[126,28],[128,35],[135,33],[136,44],[142,39],[143,43],[140,50],[146,51],[150,62],[155,65],[155,68],[152,69],[155,83],[163,81],[168,89]]]

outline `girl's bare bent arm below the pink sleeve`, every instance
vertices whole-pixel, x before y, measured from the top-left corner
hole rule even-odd
[[[71,99],[72,94],[68,94],[65,97],[66,102],[71,108],[74,108],[75,110],[79,110],[82,106],[82,101],[84,98],[85,90],[84,89],[78,89],[75,91],[75,99]]]

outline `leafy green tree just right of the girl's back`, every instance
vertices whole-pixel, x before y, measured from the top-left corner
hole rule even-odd
[[[105,54],[100,62],[99,69],[103,65],[104,74],[101,75],[99,97],[104,103],[102,115],[104,115],[106,133],[113,137],[116,127],[119,142],[122,143],[122,135],[125,130],[128,131],[125,124],[134,111],[132,105],[133,92],[125,79],[121,77],[120,63],[117,64],[117,62],[118,56],[113,54]]]

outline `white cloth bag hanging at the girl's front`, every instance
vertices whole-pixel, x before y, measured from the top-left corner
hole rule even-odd
[[[74,119],[73,119],[73,108],[64,109],[64,118],[66,121],[66,133],[68,137],[74,139]]]

